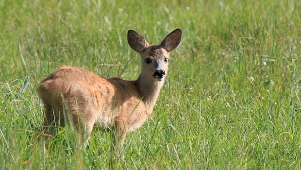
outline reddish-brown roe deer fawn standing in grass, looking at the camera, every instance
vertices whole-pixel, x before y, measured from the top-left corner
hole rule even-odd
[[[181,36],[182,31],[176,29],[159,45],[149,45],[142,35],[129,30],[128,43],[142,61],[136,81],[106,79],[67,66],[53,71],[38,87],[45,107],[43,132],[54,136],[55,125],[64,126],[70,118],[86,142],[95,125],[101,129],[114,126],[113,144],[122,146],[126,133],[142,126],[152,113],[167,75],[169,52],[178,47]]]

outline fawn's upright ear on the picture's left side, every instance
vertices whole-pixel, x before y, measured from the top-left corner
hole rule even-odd
[[[146,41],[146,39],[134,30],[128,31],[128,43],[136,52],[141,52],[143,49],[149,46],[149,43]]]

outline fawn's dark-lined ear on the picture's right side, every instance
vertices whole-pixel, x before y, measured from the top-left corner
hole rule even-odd
[[[160,45],[168,52],[173,51],[180,44],[181,37],[182,30],[178,28],[173,32],[169,33]]]

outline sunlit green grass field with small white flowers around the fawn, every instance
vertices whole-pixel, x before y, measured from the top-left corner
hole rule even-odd
[[[301,0],[0,0],[0,169],[301,169]],[[181,28],[151,118],[126,137],[62,129],[37,140],[36,89],[82,67],[134,80],[134,29],[159,43]]]

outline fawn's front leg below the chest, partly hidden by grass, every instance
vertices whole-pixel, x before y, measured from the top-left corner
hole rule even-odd
[[[115,128],[115,134],[113,138],[113,145],[115,148],[117,148],[118,146],[122,147],[124,144],[126,133],[128,131],[127,125],[123,121],[123,119],[117,117],[114,120],[114,128]]]

